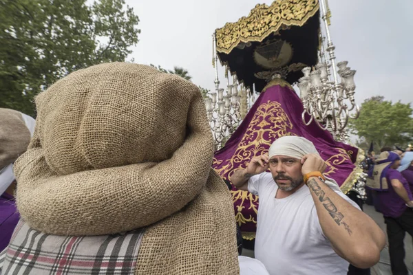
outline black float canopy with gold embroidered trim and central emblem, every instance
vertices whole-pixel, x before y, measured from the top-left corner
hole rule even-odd
[[[246,87],[262,91],[274,72],[295,83],[302,68],[317,63],[319,2],[259,4],[248,17],[217,29],[215,36],[221,63]]]

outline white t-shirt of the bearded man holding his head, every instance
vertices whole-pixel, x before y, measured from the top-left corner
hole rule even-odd
[[[260,196],[255,258],[264,263],[269,274],[347,274],[349,263],[332,250],[324,236],[307,186],[275,199],[278,186],[271,173],[262,173],[248,180],[248,190]],[[360,209],[343,192],[337,194]]]

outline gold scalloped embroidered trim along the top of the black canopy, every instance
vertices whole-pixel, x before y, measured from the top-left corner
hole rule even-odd
[[[301,27],[318,10],[318,0],[277,0],[270,6],[258,4],[248,17],[226,23],[215,31],[217,52],[229,54],[238,44],[261,42],[280,28]]]

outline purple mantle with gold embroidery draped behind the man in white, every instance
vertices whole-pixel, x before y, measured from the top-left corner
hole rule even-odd
[[[302,111],[301,100],[289,87],[275,85],[266,89],[225,146],[215,152],[213,168],[222,178],[229,179],[235,170],[245,168],[252,157],[268,153],[268,148],[279,137],[298,135],[313,142],[328,164],[328,177],[341,186],[354,170],[357,148],[336,142],[315,122],[305,126],[301,120]],[[258,198],[236,188],[232,188],[231,193],[235,219],[245,237],[245,232],[256,230]]]

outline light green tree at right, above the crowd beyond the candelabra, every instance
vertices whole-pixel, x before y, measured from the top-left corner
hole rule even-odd
[[[350,121],[350,129],[361,142],[374,142],[375,148],[406,146],[413,140],[412,113],[410,103],[392,103],[374,96],[361,104],[360,117]]]

